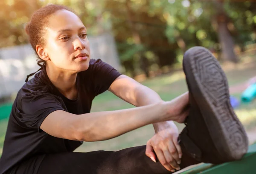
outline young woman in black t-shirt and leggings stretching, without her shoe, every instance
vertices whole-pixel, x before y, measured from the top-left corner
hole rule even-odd
[[[188,93],[162,101],[102,60],[90,59],[87,28],[67,7],[39,9],[26,32],[41,71],[27,77],[13,104],[0,174],[149,174],[184,167],[172,121],[183,123],[188,115]],[[106,90],[137,107],[90,113],[93,98]],[[108,140],[148,124],[155,135],[146,146],[73,152],[83,141]]]

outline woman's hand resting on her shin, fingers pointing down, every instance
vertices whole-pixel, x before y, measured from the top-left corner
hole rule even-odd
[[[179,164],[182,152],[177,142],[177,126],[173,122],[168,125],[168,127],[165,126],[165,129],[157,131],[155,135],[148,140],[145,154],[154,162],[156,162],[156,154],[160,163],[167,170],[174,172],[174,169],[180,170]]]

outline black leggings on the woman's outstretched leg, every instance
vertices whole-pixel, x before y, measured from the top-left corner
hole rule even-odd
[[[171,174],[160,162],[154,163],[145,155],[146,146],[117,152],[67,152],[47,154],[39,168],[37,157],[21,163],[9,174]],[[180,168],[195,164],[183,154]]]

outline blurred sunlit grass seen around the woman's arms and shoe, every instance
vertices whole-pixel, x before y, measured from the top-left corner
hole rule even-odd
[[[246,59],[245,59],[246,60]],[[256,76],[256,61],[245,62],[244,64],[229,66],[223,65],[230,86],[247,81],[250,77]],[[142,84],[155,90],[163,100],[171,100],[178,95],[187,91],[185,76],[183,71],[176,71],[171,74],[155,77],[143,81]],[[239,98],[241,93],[234,93],[235,97]],[[116,109],[126,109],[134,107],[131,104],[122,101],[110,92],[105,92],[97,96],[93,101],[92,112],[108,111]],[[241,104],[238,109],[235,109],[241,122],[246,130],[250,131],[256,127],[256,101],[250,104]],[[4,134],[6,131],[7,119],[0,121],[0,153],[3,146]],[[177,123],[179,130],[184,127],[183,124]],[[144,126],[134,131],[128,132],[111,140],[99,142],[84,142],[82,146],[76,149],[76,152],[90,152],[96,150],[120,150],[131,146],[145,145],[154,135],[152,125]]]

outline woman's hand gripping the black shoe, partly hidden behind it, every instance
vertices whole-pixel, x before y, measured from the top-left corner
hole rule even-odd
[[[167,112],[164,115],[162,121],[176,121],[178,123],[184,123],[186,117],[189,115],[189,93],[183,93],[177,98],[166,101],[165,107]]]

